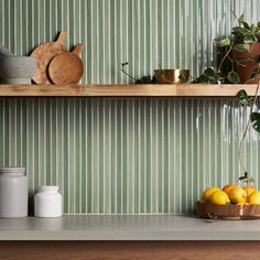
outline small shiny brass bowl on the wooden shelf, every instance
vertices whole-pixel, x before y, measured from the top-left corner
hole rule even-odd
[[[154,77],[159,84],[184,84],[180,78],[180,74],[188,78],[188,69],[155,69]]]

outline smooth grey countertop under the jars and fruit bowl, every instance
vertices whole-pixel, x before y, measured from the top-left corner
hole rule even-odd
[[[260,240],[260,220],[171,215],[2,218],[0,240]]]

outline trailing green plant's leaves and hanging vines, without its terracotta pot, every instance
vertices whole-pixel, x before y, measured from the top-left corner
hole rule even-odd
[[[236,17],[236,14],[235,14]],[[237,18],[237,17],[236,17]],[[252,79],[258,79],[257,89],[253,97],[249,97],[245,89],[241,89],[237,94],[237,99],[243,107],[250,108],[249,120],[242,133],[242,138],[239,144],[239,163],[242,166],[245,174],[240,176],[239,180],[246,182],[247,186],[253,182],[252,177],[249,177],[248,172],[246,170],[246,165],[241,160],[241,149],[243,141],[246,139],[247,132],[249,127],[252,127],[257,132],[260,133],[260,112],[256,110],[257,107],[257,97],[259,93],[259,85],[260,85],[260,55],[243,58],[243,59],[236,59],[232,56],[234,51],[236,52],[248,52],[250,53],[253,44],[260,42],[260,22],[257,24],[249,25],[245,21],[245,15],[241,14],[237,18],[238,25],[232,28],[231,35],[228,37],[217,39],[217,46],[220,50],[224,50],[224,55],[220,59],[219,65],[216,69],[206,68],[204,73],[194,79],[192,83],[194,84],[221,84],[221,83],[230,83],[230,84],[239,84],[240,78],[238,73],[236,72],[236,65],[240,65],[246,67],[248,62],[254,62],[258,64],[257,68],[251,73]],[[229,65],[230,69],[225,72],[226,65]]]

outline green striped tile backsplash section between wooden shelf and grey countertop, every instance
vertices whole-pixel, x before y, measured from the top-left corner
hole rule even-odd
[[[25,166],[31,195],[58,185],[68,214],[186,214],[238,184],[248,117],[234,99],[2,98],[0,165]],[[256,180],[259,142],[241,153]]]

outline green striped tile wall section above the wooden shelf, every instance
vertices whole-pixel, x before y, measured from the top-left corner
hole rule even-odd
[[[0,44],[17,55],[54,41],[84,44],[82,83],[129,83],[153,69],[189,68],[196,77],[214,66],[214,39],[236,24],[232,11],[258,21],[258,0],[0,0]]]

